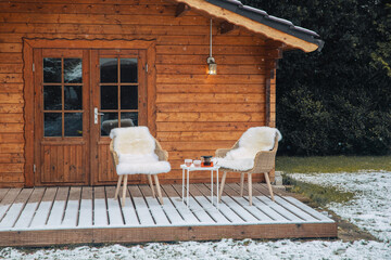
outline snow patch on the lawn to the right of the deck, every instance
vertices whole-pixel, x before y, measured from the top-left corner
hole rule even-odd
[[[381,240],[391,243],[391,172],[292,174],[297,180],[353,192],[346,204],[327,207]]]

